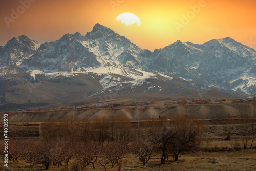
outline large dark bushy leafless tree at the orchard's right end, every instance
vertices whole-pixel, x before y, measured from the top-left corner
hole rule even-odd
[[[172,154],[175,161],[180,153],[194,151],[201,141],[201,123],[187,115],[175,115],[170,121],[160,121],[154,132],[150,133],[149,140],[156,144],[162,151],[161,164]],[[159,126],[160,125],[160,126]],[[152,129],[150,129],[152,131]]]

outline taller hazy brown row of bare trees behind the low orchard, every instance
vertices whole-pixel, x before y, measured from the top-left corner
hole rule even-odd
[[[40,126],[42,139],[67,140],[74,137],[82,141],[96,141],[99,144],[130,141],[131,137],[134,137],[133,134],[130,120],[122,116],[93,120],[86,118],[76,122],[71,117],[61,122],[48,121]]]

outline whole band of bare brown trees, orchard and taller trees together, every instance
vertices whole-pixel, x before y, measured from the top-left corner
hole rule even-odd
[[[14,162],[22,158],[46,169],[51,164],[60,167],[65,163],[68,167],[72,159],[75,170],[89,164],[95,168],[95,163],[105,170],[107,165],[117,164],[120,170],[127,153],[135,154],[143,165],[159,152],[161,163],[170,156],[177,161],[179,154],[198,149],[201,139],[202,123],[187,115],[151,120],[140,129],[133,128],[129,119],[120,116],[80,122],[70,118],[41,124],[40,138],[36,141],[9,141],[8,154]]]

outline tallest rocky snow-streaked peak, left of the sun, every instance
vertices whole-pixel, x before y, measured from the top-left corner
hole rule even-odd
[[[144,50],[146,51],[146,50]],[[88,71],[100,66],[140,65],[144,53],[138,46],[114,31],[96,24],[86,34],[65,34],[55,42],[42,44],[20,67],[47,72]]]

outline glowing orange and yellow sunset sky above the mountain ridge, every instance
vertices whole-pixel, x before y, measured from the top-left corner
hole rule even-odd
[[[177,40],[202,44],[225,37],[256,49],[255,7],[255,0],[0,0],[0,45],[23,34],[40,43],[85,35],[99,23],[151,51]],[[141,25],[117,22],[124,12]]]

